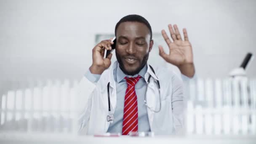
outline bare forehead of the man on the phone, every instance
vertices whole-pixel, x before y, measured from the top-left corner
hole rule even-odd
[[[131,21],[121,23],[117,28],[116,35],[128,38],[150,37],[149,28],[145,24]]]

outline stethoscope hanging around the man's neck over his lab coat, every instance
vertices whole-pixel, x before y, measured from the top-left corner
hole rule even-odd
[[[150,69],[154,72],[155,74],[155,71],[153,69],[153,67],[151,67],[151,65],[149,65]],[[149,81],[150,81],[150,78],[151,78],[151,75],[149,75],[149,78],[147,79],[147,87],[148,87],[148,84],[149,84]],[[159,101],[160,101],[160,107],[158,110],[154,110],[152,107],[149,107],[147,105],[147,87],[146,87],[146,92],[145,92],[145,95],[144,95],[144,103],[145,105],[152,111],[152,112],[160,112],[161,110],[161,95],[160,95],[160,83],[159,83],[159,80],[156,80],[157,81],[157,85],[158,85],[158,92],[159,92]],[[110,109],[110,97],[109,97],[109,84],[110,82],[107,84],[107,96],[108,96],[108,102],[109,102],[109,115],[107,115],[107,121],[111,121],[111,123],[113,122],[114,120],[114,115],[113,113],[111,113],[111,109]]]

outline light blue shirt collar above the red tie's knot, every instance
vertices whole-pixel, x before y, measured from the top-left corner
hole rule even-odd
[[[147,72],[147,64],[145,64],[145,66],[141,69],[141,71],[139,72],[139,74],[136,75],[125,75],[125,73],[120,69],[119,64],[117,64],[117,71],[116,71],[116,76],[117,76],[117,83],[120,83],[122,80],[124,80],[124,78],[127,77],[137,77],[138,75],[140,75],[141,77],[143,77],[145,79],[145,74]]]

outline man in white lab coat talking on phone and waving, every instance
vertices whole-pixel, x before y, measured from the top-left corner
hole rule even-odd
[[[192,46],[186,29],[182,40],[176,25],[168,27],[172,40],[165,30],[162,35],[170,52],[166,54],[159,46],[159,55],[177,66],[183,78],[193,77]],[[93,48],[93,63],[80,82],[80,133],[175,133],[174,120],[182,126],[183,85],[173,72],[147,64],[153,46],[150,24],[142,16],[125,16],[116,24],[115,36],[117,61],[110,67],[112,54],[104,59],[102,49],[111,50],[113,42],[101,41]]]

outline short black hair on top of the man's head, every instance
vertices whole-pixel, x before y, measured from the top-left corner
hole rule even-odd
[[[117,28],[119,27],[119,25],[126,21],[140,22],[142,24],[145,24],[149,28],[150,40],[152,40],[152,29],[151,29],[149,22],[144,17],[136,15],[136,14],[131,14],[131,15],[125,16],[122,19],[120,19],[120,21],[117,22],[117,24],[115,25],[115,36],[116,36]]]

